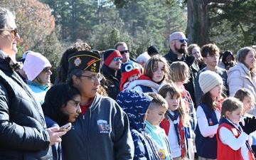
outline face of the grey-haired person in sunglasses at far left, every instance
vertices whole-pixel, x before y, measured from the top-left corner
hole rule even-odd
[[[14,30],[17,27],[14,19],[9,22],[10,27],[6,29]],[[14,33],[11,33],[11,31],[2,31],[0,34],[0,50],[3,50],[10,56],[16,54],[18,52],[16,45],[19,39],[18,33],[14,36]]]

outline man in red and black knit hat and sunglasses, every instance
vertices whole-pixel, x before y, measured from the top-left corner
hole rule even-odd
[[[101,71],[105,79],[101,81],[101,85],[107,86],[105,88],[107,95],[116,100],[117,94],[120,92],[120,69],[123,58],[119,51],[114,49],[105,50],[103,54],[104,64],[102,65]]]

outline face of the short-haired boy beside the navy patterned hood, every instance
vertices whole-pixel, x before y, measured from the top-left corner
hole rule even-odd
[[[149,121],[152,125],[157,126],[164,119],[164,114],[166,109],[161,105],[154,107],[153,109],[148,109],[146,111],[146,120]]]

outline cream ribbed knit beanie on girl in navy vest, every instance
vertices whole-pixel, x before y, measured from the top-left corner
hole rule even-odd
[[[223,79],[213,71],[206,70],[199,75],[199,85],[203,93],[209,92],[220,83],[223,84]]]

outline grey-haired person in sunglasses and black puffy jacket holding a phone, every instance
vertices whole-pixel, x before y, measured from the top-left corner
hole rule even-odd
[[[52,159],[50,145],[66,132],[46,129],[40,103],[16,73],[16,28],[14,14],[0,7],[0,159]]]

